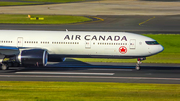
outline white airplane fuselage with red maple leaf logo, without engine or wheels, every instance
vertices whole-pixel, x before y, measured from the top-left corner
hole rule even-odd
[[[138,58],[163,51],[146,36],[127,32],[1,30],[0,46],[45,49],[61,57]]]

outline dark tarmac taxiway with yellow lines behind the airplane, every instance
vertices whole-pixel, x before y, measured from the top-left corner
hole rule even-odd
[[[62,25],[0,24],[8,30],[112,31],[180,34],[180,15],[169,16],[91,16],[93,22]]]

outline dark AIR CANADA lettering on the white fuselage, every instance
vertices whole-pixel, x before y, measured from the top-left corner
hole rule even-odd
[[[81,35],[66,35],[64,37],[64,40],[81,40]],[[99,40],[99,41],[127,41],[126,36],[120,37],[120,36],[96,36],[96,35],[85,35],[84,40]]]

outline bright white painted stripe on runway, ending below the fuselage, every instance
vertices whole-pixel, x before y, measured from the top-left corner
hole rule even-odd
[[[114,73],[77,73],[77,72],[16,72],[16,74],[114,75]]]

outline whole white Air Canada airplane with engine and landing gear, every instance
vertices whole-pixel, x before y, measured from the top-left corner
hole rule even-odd
[[[137,58],[164,50],[156,40],[128,32],[0,30],[0,69],[46,66],[71,58]]]

